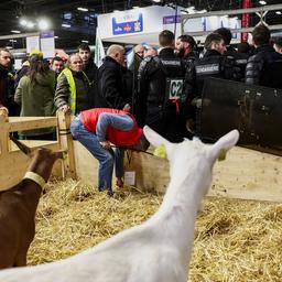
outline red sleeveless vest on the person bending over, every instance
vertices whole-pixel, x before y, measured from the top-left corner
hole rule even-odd
[[[137,126],[135,119],[127,111],[109,109],[109,108],[96,108],[90,110],[84,110],[80,112],[82,122],[84,127],[90,131],[96,132],[97,122],[99,120],[99,116],[102,112],[111,112],[117,115],[128,115],[132,118],[134,126],[131,130],[118,130],[112,127],[108,127],[106,138],[115,145],[134,145],[138,143],[139,139],[142,135],[142,129]]]

